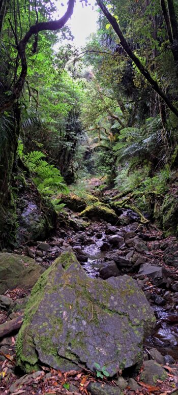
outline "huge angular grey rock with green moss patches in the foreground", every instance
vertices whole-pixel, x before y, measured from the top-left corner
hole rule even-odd
[[[109,375],[140,362],[144,333],[155,322],[143,292],[129,276],[91,279],[64,252],[41,276],[27,303],[17,339],[17,363],[68,371],[107,366]]]

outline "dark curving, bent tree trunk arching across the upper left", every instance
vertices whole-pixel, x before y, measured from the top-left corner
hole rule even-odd
[[[0,1],[2,1],[2,0],[0,0]],[[22,89],[24,86],[24,82],[25,82],[25,78],[27,75],[27,62],[26,62],[26,55],[25,55],[25,47],[26,47],[26,44],[29,41],[29,39],[33,35],[37,35],[39,32],[42,32],[42,31],[46,31],[46,30],[56,31],[58,29],[61,29],[66,24],[66,22],[71,17],[71,15],[73,14],[74,3],[75,3],[75,0],[69,0],[68,9],[61,19],[52,20],[49,22],[40,22],[40,23],[37,23],[37,24],[31,26],[29,28],[28,32],[23,37],[23,39],[19,42],[19,44],[17,46],[17,51],[18,51],[18,56],[20,57],[20,60],[21,60],[20,77],[19,77],[18,81],[16,82],[16,84],[14,85],[12,95],[9,97],[8,100],[6,100],[4,103],[1,104],[0,112],[3,112],[5,110],[7,110],[8,108],[10,108],[13,105],[13,103],[15,102],[15,100],[19,99],[19,97],[21,95],[21,92],[22,92]]]

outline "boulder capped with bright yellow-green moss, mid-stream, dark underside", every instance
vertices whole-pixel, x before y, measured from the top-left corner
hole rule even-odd
[[[98,221],[103,220],[109,222],[111,225],[115,225],[118,222],[118,217],[109,205],[97,202],[90,206],[87,206],[85,210],[80,213],[81,217],[90,218],[91,220]]]

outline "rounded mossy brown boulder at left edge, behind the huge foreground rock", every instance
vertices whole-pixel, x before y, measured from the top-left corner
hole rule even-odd
[[[8,289],[31,288],[44,269],[24,255],[0,253],[0,293]]]

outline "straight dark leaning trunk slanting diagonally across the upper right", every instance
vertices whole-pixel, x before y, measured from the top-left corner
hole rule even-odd
[[[133,60],[137,68],[139,69],[140,73],[144,76],[144,78],[150,83],[152,88],[157,92],[157,94],[163,99],[163,101],[167,104],[168,108],[178,117],[178,110],[173,106],[171,101],[168,97],[164,94],[163,90],[159,87],[157,81],[155,81],[149,71],[141,64],[139,58],[133,53],[132,49],[129,47],[127,40],[125,39],[120,26],[118,25],[114,16],[112,16],[105,5],[103,4],[102,0],[97,1],[99,7],[101,8],[102,12],[108,19],[109,23],[113,27],[115,33],[117,34],[118,38],[120,39],[120,44],[124,48],[125,52],[128,56]]]

